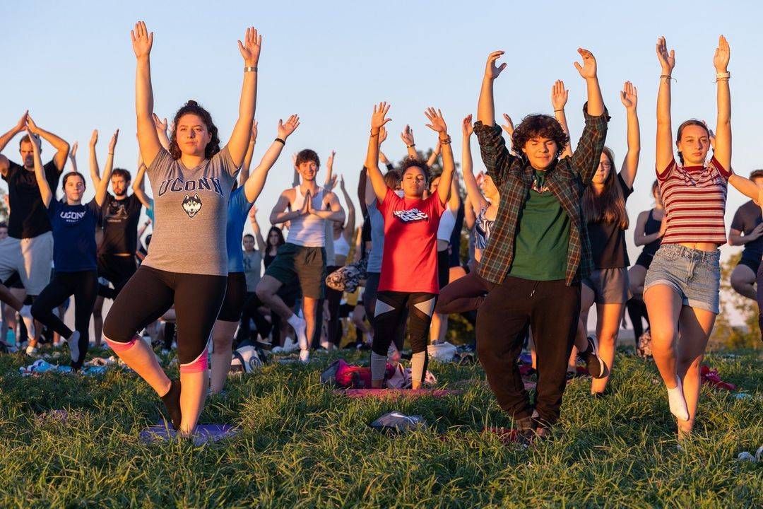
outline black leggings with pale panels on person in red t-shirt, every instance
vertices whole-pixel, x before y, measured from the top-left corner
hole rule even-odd
[[[374,317],[374,341],[372,345],[371,378],[384,379],[387,351],[399,322],[408,311],[408,339],[413,352],[411,378],[423,383],[427,372],[427,338],[432,314],[437,301],[433,293],[378,292]],[[384,362],[381,357],[384,357]]]

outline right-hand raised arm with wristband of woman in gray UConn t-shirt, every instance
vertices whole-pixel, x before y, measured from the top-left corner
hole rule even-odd
[[[254,110],[257,103],[257,63],[259,62],[259,50],[262,48],[262,36],[257,34],[254,27],[246,29],[243,43],[238,41],[239,51],[243,57],[243,86],[239,101],[239,118],[233,126],[233,133],[228,140],[228,151],[233,164],[241,166],[246,149],[249,147],[249,138],[254,121]]]

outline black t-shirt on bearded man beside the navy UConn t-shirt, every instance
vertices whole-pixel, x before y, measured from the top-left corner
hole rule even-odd
[[[141,206],[136,195],[127,196],[124,200],[106,195],[101,207],[103,240],[98,246],[98,254],[135,253]]]

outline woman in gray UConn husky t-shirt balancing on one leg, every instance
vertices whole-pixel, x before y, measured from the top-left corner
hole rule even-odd
[[[230,189],[249,146],[262,37],[246,29],[239,118],[220,150],[211,115],[195,101],[175,114],[169,152],[153,124],[149,55],[153,32],[139,21],[130,33],[137,57],[135,109],[138,144],[149,163],[156,229],[148,256],[111,306],[106,343],[162,398],[172,428],[193,433],[207,394],[207,340],[227,282],[225,223]],[[137,331],[175,304],[180,379],[170,380]]]

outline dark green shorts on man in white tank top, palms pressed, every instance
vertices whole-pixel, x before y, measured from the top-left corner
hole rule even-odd
[[[323,247],[285,243],[278,247],[278,253],[265,274],[286,286],[298,282],[304,297],[324,298],[326,250]]]

